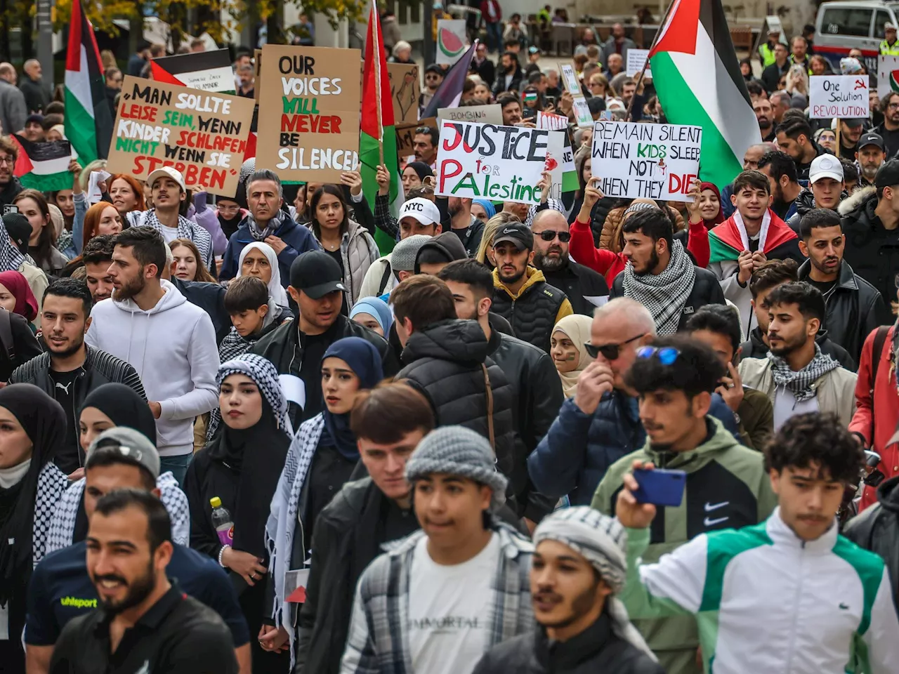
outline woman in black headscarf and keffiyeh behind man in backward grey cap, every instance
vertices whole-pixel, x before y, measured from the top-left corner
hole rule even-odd
[[[78,442],[85,453],[85,461],[93,440],[104,430],[116,426],[137,430],[156,444],[156,420],[146,400],[124,384],[97,386],[85,397],[85,403],[78,414]],[[47,552],[78,543],[87,536],[84,469],[79,468],[76,474],[75,481],[62,495],[53,514]],[[159,475],[156,486],[159,488],[159,499],[163,501],[165,510],[168,510],[169,518],[172,519],[172,540],[178,545],[188,545],[191,519],[187,496],[181,491],[171,471]]]

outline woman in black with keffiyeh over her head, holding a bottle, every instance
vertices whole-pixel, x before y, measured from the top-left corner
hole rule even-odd
[[[291,429],[278,370],[262,356],[245,353],[218,368],[223,423],[193,456],[184,488],[191,504],[191,547],[209,554],[235,581],[250,634],[260,633],[265,606],[265,521]],[[230,530],[217,531],[211,501],[230,514]],[[217,504],[218,504],[218,501]],[[286,656],[253,644],[254,672],[286,672]]]

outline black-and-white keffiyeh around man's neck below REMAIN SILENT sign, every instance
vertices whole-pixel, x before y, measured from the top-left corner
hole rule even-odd
[[[674,241],[671,260],[661,274],[637,274],[634,265],[628,261],[624,268],[624,295],[649,309],[656,333],[674,334],[694,280],[696,268],[690,255],[683,250],[680,241]]]

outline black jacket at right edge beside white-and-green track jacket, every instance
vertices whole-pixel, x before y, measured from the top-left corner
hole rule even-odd
[[[893,602],[899,610],[899,477],[877,487],[877,504],[850,519],[842,535],[852,543],[879,554],[886,562],[893,587]]]

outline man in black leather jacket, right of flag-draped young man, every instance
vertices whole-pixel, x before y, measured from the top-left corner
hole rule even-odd
[[[808,258],[799,267],[799,280],[821,291],[828,336],[859,362],[868,334],[893,323],[890,310],[877,288],[842,259],[846,237],[836,212],[827,208],[808,211],[800,222],[799,235],[799,250]]]

